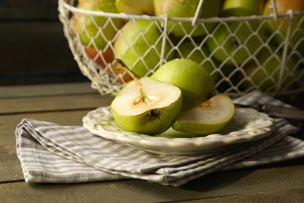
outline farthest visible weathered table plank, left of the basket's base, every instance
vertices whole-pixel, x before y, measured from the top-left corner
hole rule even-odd
[[[96,92],[98,91],[91,87],[90,82],[0,86],[0,99],[24,96],[36,96],[39,98],[41,96],[49,95],[70,95]]]

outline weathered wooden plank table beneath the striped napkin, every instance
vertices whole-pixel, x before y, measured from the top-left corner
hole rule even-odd
[[[23,118],[82,125],[88,111],[112,98],[89,83],[0,87],[0,202],[304,202],[304,158],[209,174],[181,187],[142,180],[24,182],[14,135]],[[302,129],[296,136],[303,135]]]

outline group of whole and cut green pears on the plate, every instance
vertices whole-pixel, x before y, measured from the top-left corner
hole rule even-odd
[[[213,78],[195,61],[171,60],[151,77],[129,72],[134,80],[111,103],[115,121],[126,131],[156,136],[172,127],[193,137],[206,136],[234,115],[233,101],[215,95]]]

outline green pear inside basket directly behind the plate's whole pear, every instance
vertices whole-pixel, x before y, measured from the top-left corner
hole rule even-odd
[[[195,50],[195,48],[197,49]],[[199,44],[196,46],[193,45],[192,42],[184,42],[179,47],[179,51],[181,56],[178,52],[175,52],[174,58],[186,58],[193,60],[200,65],[204,66],[208,73],[212,76],[213,80],[216,81],[218,79],[218,72],[214,71],[214,69],[218,66],[217,61],[211,60],[209,57],[210,53],[206,47],[200,47]]]

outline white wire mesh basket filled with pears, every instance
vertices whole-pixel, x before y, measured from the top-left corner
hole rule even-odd
[[[186,18],[84,10],[76,7],[78,2],[68,1],[59,0],[58,7],[64,35],[82,74],[102,95],[116,95],[131,79],[118,64],[142,77],[173,58],[189,58],[209,67],[217,91],[230,96],[253,89],[271,95],[304,90],[304,12],[278,15],[275,1],[269,16],[211,18],[198,18],[202,0],[195,16]],[[82,18],[86,24],[81,24]],[[260,35],[276,20],[280,20],[277,30],[268,37]],[[284,26],[286,35],[280,32]],[[127,29],[134,36],[128,36]],[[217,35],[223,32],[227,37],[220,41]],[[281,43],[272,44],[277,37]],[[230,50],[226,46],[232,38]]]

